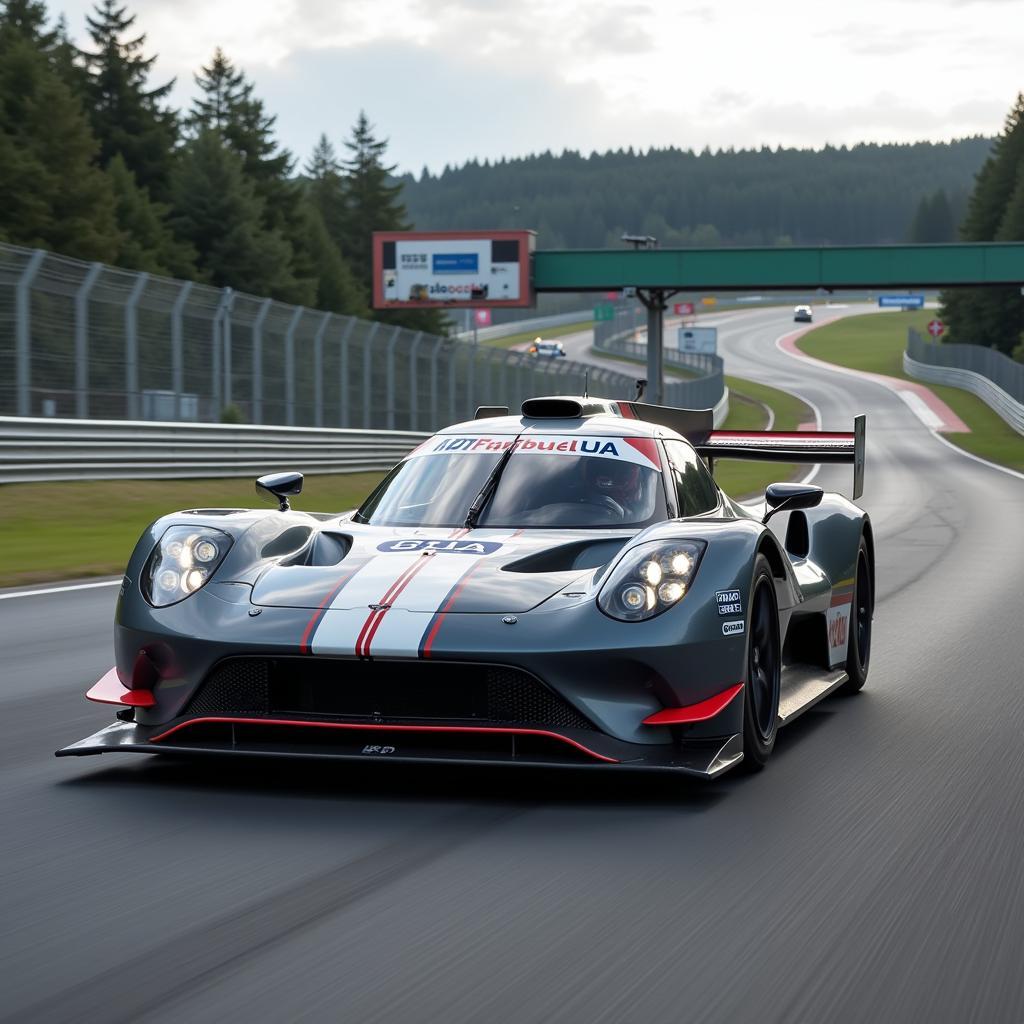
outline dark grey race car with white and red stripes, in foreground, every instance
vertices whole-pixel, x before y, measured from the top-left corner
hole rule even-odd
[[[851,432],[715,430],[589,396],[479,411],[362,505],[189,509],[138,542],[118,708],[58,756],[259,754],[665,770],[762,767],[777,730],[867,675],[867,515],[800,483],[756,506],[723,458],[854,464]]]

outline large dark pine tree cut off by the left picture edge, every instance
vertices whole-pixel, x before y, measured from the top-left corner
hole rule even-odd
[[[12,6],[0,16],[3,233],[17,245],[112,260],[120,245],[114,195],[95,166],[88,118],[40,49],[38,31],[9,19]]]

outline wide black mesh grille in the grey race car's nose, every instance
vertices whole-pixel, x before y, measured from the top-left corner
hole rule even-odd
[[[594,728],[521,669],[439,662],[232,657],[214,667],[185,714]]]

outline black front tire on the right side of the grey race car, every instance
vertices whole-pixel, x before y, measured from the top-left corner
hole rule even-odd
[[[764,555],[754,562],[750,625],[746,630],[746,685],[743,687],[743,767],[760,771],[775,749],[782,645],[775,580]]]

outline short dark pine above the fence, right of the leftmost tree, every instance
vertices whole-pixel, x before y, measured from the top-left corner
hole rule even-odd
[[[191,278],[196,273],[196,250],[174,237],[168,221],[170,210],[154,203],[135,181],[121,154],[106,168],[114,189],[118,227],[122,242],[115,262],[131,270]]]

